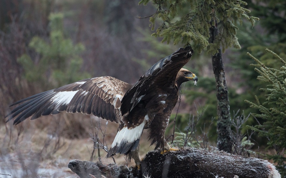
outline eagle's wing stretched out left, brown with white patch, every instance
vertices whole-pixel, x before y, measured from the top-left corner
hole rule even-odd
[[[43,115],[66,111],[93,114],[122,123],[121,99],[131,86],[108,76],[80,80],[17,101],[11,106],[20,105],[6,115],[6,122],[16,117],[14,124],[18,124],[30,116],[33,120]]]

